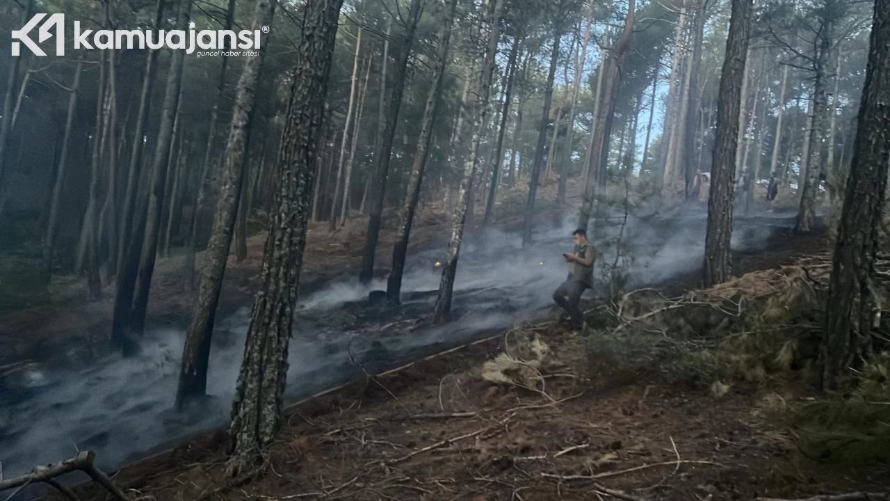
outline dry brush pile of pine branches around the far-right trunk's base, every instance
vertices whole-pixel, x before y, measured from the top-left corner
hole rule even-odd
[[[885,308],[888,268],[890,257],[878,259],[877,289]],[[709,387],[716,397],[753,384],[772,391],[765,407],[791,425],[805,456],[890,464],[886,315],[875,334],[876,353],[851,371],[844,392],[777,397],[810,392],[816,381],[830,273],[830,255],[821,254],[680,297],[652,289],[627,292],[592,312],[589,366],[611,382],[651,374]]]

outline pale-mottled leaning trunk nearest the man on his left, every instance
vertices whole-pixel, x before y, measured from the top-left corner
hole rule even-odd
[[[504,0],[495,0],[493,12],[485,12],[486,22],[482,31],[488,30],[488,37],[484,53],[480,58],[481,62],[478,66],[479,75],[474,85],[474,98],[471,100],[467,114],[471,120],[472,137],[469,153],[464,159],[464,175],[460,180],[460,187],[457,191],[457,208],[451,220],[448,256],[442,269],[439,294],[436,297],[433,313],[433,321],[436,323],[445,322],[451,315],[451,297],[454,293],[454,279],[457,275],[457,258],[460,255],[460,245],[464,238],[466,209],[473,177],[479,166],[479,144],[481,143],[482,130],[485,124],[485,115],[489,112],[488,102],[491,92],[491,75],[494,73],[495,53],[498,52],[498,40],[500,39],[499,22],[502,12],[504,12]]]

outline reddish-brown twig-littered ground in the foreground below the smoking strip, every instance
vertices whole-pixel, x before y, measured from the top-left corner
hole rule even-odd
[[[740,256],[736,269],[825,250],[821,235],[789,236]],[[514,349],[518,330],[550,349],[533,390],[481,378],[486,360]],[[703,501],[888,488],[886,466],[840,470],[798,454],[793,431],[762,405],[775,388],[741,385],[716,397],[649,371],[607,368],[578,333],[553,322],[520,326],[290,407],[251,480],[223,478],[222,431],[126,466],[115,480],[158,501]],[[805,385],[782,391],[807,396]],[[95,486],[77,494],[107,498]]]

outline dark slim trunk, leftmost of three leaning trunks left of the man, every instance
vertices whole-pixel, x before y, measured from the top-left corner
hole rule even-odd
[[[374,278],[374,260],[376,258],[377,240],[380,237],[380,226],[383,223],[384,201],[386,197],[386,178],[389,176],[390,157],[392,156],[392,142],[395,139],[395,129],[399,123],[399,110],[401,109],[401,94],[405,89],[405,74],[408,70],[408,59],[411,54],[411,45],[414,44],[414,33],[417,30],[417,21],[420,19],[420,0],[411,0],[408,19],[406,20],[405,34],[396,61],[395,72],[392,75],[392,90],[389,96],[389,113],[383,124],[383,140],[380,145],[379,155],[374,168],[374,181],[371,189],[371,214],[368,218],[368,235],[365,243],[364,258],[361,262],[361,283],[369,283]]]

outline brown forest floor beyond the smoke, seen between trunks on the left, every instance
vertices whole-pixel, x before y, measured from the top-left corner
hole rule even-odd
[[[567,210],[554,203],[556,185],[551,182],[538,191],[536,224],[558,222]],[[579,196],[577,180],[570,179],[569,203]],[[498,196],[496,217],[492,227],[500,231],[516,232],[522,228],[522,189],[504,190]],[[476,217],[468,232],[478,231],[484,205],[475,204]],[[409,252],[434,246],[445,249],[449,238],[450,213],[441,204],[428,204],[419,209],[411,231]],[[398,224],[398,210],[384,212],[384,227],[376,252],[376,275],[388,273],[392,261],[392,246]],[[306,243],[301,292],[319,289],[325,283],[358,276],[368,218],[356,217],[346,221],[335,232],[328,231],[328,223],[312,223]],[[252,234],[247,239],[247,259],[229,259],[223,283],[220,311],[230,311],[249,304],[257,289],[263,261],[265,233]],[[186,256],[176,250],[168,257],[158,256],[152,281],[148,328],[188,325],[195,292],[188,286],[185,272]],[[201,259],[196,258],[197,266]],[[102,273],[105,278],[104,272]],[[25,308],[0,311],[0,370],[22,366],[32,361],[65,367],[88,365],[109,354],[111,313],[114,287],[106,284],[98,302],[86,300],[86,281],[83,276],[53,277],[44,294]]]

